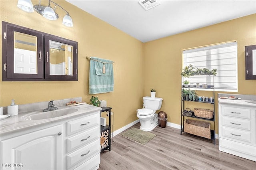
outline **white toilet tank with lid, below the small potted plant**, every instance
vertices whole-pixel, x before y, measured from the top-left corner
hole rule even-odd
[[[158,97],[143,97],[143,104],[144,104],[144,107],[146,109],[151,109],[153,111],[157,111],[159,109],[161,109],[161,106],[162,106],[162,98],[158,98]]]

